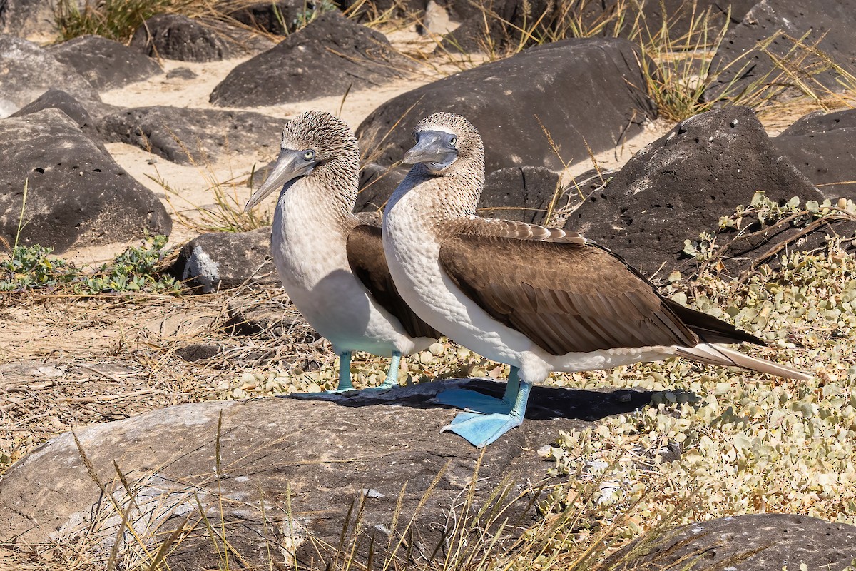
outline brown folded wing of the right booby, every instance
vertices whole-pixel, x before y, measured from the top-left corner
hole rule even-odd
[[[656,289],[608,251],[581,240],[507,237],[493,223],[472,230],[443,241],[443,270],[550,354],[698,343]]]

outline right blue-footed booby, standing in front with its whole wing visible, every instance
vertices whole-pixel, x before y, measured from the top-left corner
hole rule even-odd
[[[502,401],[444,391],[437,400],[469,411],[443,430],[486,446],[520,425],[532,384],[552,371],[681,356],[811,378],[722,346],[764,342],[663,297],[621,257],[579,234],[477,217],[484,147],[463,117],[427,116],[414,135],[416,145],[403,161],[413,169],[383,214],[383,248],[395,285],[425,323],[517,367],[520,379],[519,389],[509,382]]]

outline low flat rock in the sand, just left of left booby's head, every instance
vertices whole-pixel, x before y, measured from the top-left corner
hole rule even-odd
[[[139,146],[174,163],[193,164],[225,152],[278,148],[282,120],[252,111],[157,106],[117,110],[101,118],[98,130],[104,140]]]

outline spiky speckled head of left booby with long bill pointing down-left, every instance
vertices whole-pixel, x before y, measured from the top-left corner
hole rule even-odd
[[[247,200],[244,210],[249,211],[268,194],[301,176],[324,177],[336,187],[342,187],[342,182],[347,181],[348,188],[336,190],[355,196],[359,165],[360,147],[347,123],[324,111],[300,113],[282,129],[276,164],[267,180]]]

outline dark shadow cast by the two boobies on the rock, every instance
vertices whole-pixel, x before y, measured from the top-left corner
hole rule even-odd
[[[443,390],[475,390],[502,398],[504,382],[485,378],[453,378],[412,384],[381,391],[348,393],[300,393],[284,398],[302,401],[330,401],[342,407],[395,405],[413,408],[453,408],[435,400]],[[536,386],[532,388],[526,419],[579,419],[593,421],[615,414],[630,413],[651,403],[656,393],[650,390],[580,390]]]

